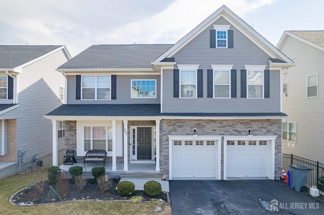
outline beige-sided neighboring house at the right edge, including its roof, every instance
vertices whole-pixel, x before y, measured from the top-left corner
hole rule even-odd
[[[324,163],[324,31],[285,31],[278,45],[296,66],[282,71],[282,152]]]

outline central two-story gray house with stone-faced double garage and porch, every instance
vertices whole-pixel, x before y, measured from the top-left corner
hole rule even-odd
[[[89,149],[107,150],[111,171],[156,160],[155,171],[170,180],[275,179],[287,119],[280,70],[292,65],[222,6],[174,45],[79,53],[58,68],[65,104],[47,118],[65,121],[65,148],[79,161]],[[53,132],[54,152],[56,140]]]

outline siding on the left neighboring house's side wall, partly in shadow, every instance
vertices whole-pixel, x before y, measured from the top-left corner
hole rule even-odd
[[[32,155],[43,157],[52,154],[52,121],[44,116],[62,105],[59,87],[64,87],[64,76],[56,68],[67,57],[58,50],[25,68],[19,75],[19,107],[2,118],[17,119],[17,149],[25,149],[24,160]]]

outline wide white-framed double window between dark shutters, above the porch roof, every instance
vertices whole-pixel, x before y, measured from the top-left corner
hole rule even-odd
[[[110,99],[110,75],[82,76],[82,99]]]

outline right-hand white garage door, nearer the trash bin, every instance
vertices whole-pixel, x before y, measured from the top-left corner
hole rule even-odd
[[[226,141],[226,176],[267,177],[270,147],[266,140]]]

